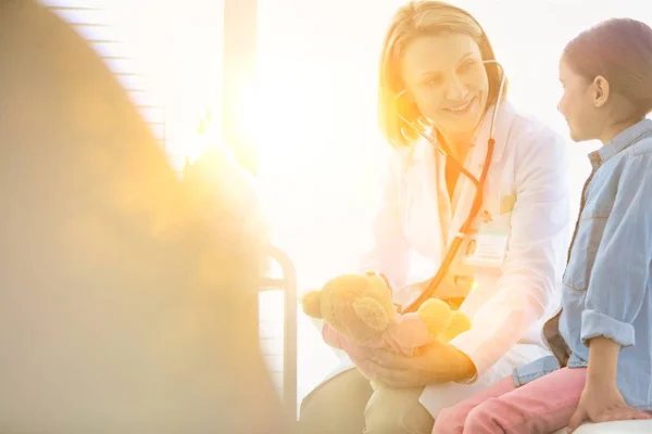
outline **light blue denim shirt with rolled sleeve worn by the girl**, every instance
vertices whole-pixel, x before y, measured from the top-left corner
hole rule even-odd
[[[586,342],[620,345],[617,385],[628,405],[652,409],[652,120],[589,155],[579,217],[563,277],[562,309],[543,328],[554,356],[514,372],[523,385],[560,366],[587,366]]]

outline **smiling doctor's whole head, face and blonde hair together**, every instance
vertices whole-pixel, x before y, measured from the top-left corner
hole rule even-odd
[[[440,1],[401,8],[380,59],[378,105],[388,141],[411,146],[421,125],[435,127],[450,145],[464,145],[499,97],[502,71],[484,63],[494,60],[487,34],[465,10]]]

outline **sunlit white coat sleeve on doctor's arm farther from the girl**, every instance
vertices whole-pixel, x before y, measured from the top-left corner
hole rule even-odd
[[[408,280],[409,245],[403,232],[399,201],[402,158],[392,153],[383,181],[380,206],[372,224],[371,248],[360,258],[360,271],[385,275],[392,289]]]

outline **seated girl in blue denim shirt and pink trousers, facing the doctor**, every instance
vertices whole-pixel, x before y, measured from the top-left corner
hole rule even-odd
[[[563,278],[543,327],[554,356],[442,411],[434,433],[549,433],[582,421],[649,419],[652,410],[652,29],[610,20],[560,62],[559,104],[589,155]]]

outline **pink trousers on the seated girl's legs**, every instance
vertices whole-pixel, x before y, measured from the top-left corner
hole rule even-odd
[[[512,378],[442,410],[432,434],[549,434],[568,424],[586,368],[563,368],[515,387]]]

